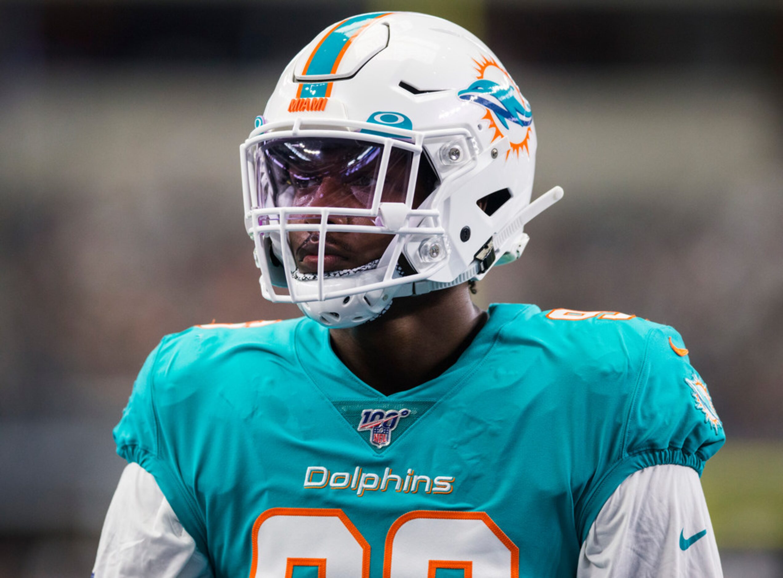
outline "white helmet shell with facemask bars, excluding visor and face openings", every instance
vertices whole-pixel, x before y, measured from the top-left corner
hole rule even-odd
[[[381,202],[381,177],[366,208],[312,210],[322,245],[330,232],[393,235],[369,268],[328,272],[321,247],[318,273],[297,274],[286,241],[292,211],[269,202],[258,150],[273,139],[309,137],[382,147],[383,174],[392,149],[412,155],[404,203]],[[530,204],[532,110],[500,60],[464,28],[424,14],[370,13],[328,27],[283,71],[240,149],[245,222],[263,294],[297,303],[328,327],[365,323],[395,296],[481,279],[494,263],[513,261],[527,241],[525,222],[562,195],[558,187]],[[438,186],[414,206],[421,163],[434,169]],[[329,215],[348,214],[374,226],[328,222]]]

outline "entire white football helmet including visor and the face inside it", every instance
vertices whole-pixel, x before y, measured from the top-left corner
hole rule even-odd
[[[447,20],[370,13],[291,60],[240,146],[264,297],[327,327],[480,280],[521,255],[532,111],[500,60]],[[287,291],[278,291],[284,288]]]

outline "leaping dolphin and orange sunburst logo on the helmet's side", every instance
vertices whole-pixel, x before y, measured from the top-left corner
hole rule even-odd
[[[486,114],[482,120],[489,121],[489,128],[494,130],[492,142],[503,136],[508,137],[507,160],[511,152],[519,157],[521,150],[530,156],[528,143],[533,121],[530,104],[496,60],[484,57],[480,62],[474,60],[474,63],[478,72],[476,80],[456,95],[485,108]]]

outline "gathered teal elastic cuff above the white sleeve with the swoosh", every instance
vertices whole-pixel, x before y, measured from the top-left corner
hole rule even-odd
[[[583,544],[587,537],[587,533],[590,532],[590,527],[593,526],[593,522],[595,522],[598,512],[601,511],[606,500],[612,496],[612,493],[615,492],[615,489],[619,487],[623,480],[635,471],[663,464],[687,466],[688,468],[695,469],[696,473],[700,476],[704,469],[704,460],[702,460],[702,458],[693,453],[684,453],[680,448],[645,451],[627,456],[624,460],[615,464],[615,466],[604,475],[601,482],[597,483],[593,493],[586,502],[584,502],[583,507],[577,505],[575,514],[579,544]]]

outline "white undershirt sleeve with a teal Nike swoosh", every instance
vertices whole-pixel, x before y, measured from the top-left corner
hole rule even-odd
[[[696,471],[666,464],[628,476],[590,528],[576,576],[723,576]]]

